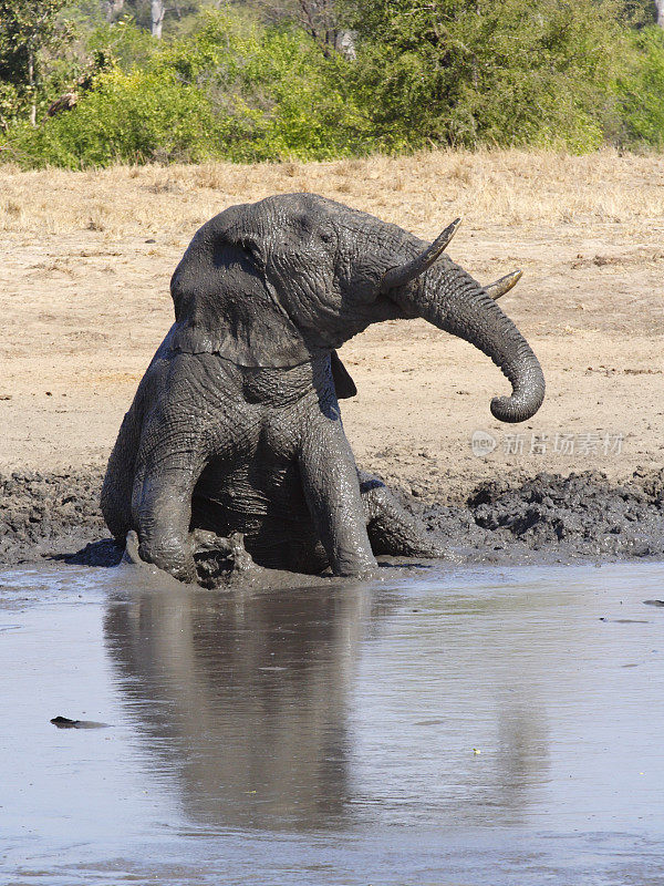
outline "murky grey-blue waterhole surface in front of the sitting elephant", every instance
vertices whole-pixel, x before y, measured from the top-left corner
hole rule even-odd
[[[123,569],[0,574],[2,884],[664,878],[664,566]]]

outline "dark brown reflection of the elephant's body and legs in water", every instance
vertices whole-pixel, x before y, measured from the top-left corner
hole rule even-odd
[[[122,692],[195,821],[298,831],[339,822],[366,599],[351,588],[180,589],[110,605]]]

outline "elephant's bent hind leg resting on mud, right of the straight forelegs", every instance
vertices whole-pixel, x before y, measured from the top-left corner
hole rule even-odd
[[[444,548],[422,523],[402,507],[387,486],[359,471],[369,538],[374,554],[406,557],[443,557]]]

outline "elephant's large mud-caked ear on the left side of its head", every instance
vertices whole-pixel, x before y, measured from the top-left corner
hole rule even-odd
[[[231,207],[204,225],[175,269],[170,348],[218,353],[241,367],[305,363],[317,353],[272,292],[259,245],[234,224],[241,208]]]

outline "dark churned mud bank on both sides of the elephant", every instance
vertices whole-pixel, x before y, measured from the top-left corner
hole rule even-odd
[[[101,484],[98,468],[0,475],[0,565],[74,555],[90,565],[117,562]],[[458,562],[664,558],[664,470],[637,471],[622,485],[590,472],[484,482],[460,506],[398,495]]]

